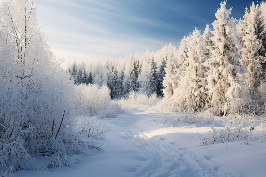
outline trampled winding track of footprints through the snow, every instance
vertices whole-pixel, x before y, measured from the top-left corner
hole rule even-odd
[[[133,144],[145,151],[146,157],[139,157],[140,161],[145,161],[144,165],[138,167],[135,172],[129,176],[143,177],[168,177],[168,176],[233,176],[222,170],[219,166],[213,166],[206,159],[193,154],[191,151],[179,148],[176,145],[164,142],[165,138],[139,137],[138,122],[150,117],[150,121],[154,116],[160,116],[157,112],[141,108],[132,108],[131,112],[127,112],[128,117],[120,120],[117,129],[123,132],[121,137],[133,142]],[[137,113],[139,112],[139,113]],[[132,115],[131,115],[132,114]],[[123,115],[122,115],[123,117]],[[117,121],[115,121],[117,123]],[[181,143],[186,143],[185,141]]]

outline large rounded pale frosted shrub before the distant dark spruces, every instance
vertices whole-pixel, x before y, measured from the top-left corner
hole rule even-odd
[[[79,115],[96,115],[99,118],[114,117],[122,112],[120,105],[111,101],[110,90],[107,86],[98,87],[96,84],[75,85],[75,109]]]

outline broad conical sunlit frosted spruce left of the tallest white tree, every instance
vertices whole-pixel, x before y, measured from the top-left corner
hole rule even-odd
[[[187,43],[188,52],[187,58],[183,65],[187,65],[182,72],[182,76],[179,79],[179,84],[175,94],[179,111],[193,111],[196,112],[204,108],[207,95],[206,81],[204,74],[206,73],[206,67],[202,65],[204,62],[203,55],[203,39],[198,27],[195,27],[190,40]]]

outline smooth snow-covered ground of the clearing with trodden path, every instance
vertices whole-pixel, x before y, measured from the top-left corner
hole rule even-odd
[[[102,152],[91,150],[88,157],[80,154],[83,161],[73,168],[17,171],[14,177],[266,175],[265,143],[253,138],[248,145],[244,143],[246,140],[201,145],[199,134],[205,136],[212,125],[161,123],[172,116],[151,106],[137,106],[115,118],[97,120],[101,129],[110,129],[104,139],[97,140]],[[217,129],[223,124],[223,120],[217,120]],[[263,132],[266,133],[266,129],[255,127],[251,134],[261,137]],[[35,158],[47,166],[49,159]]]

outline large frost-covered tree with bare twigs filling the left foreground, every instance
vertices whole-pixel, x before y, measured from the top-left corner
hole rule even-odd
[[[72,133],[73,90],[37,27],[32,4],[8,1],[0,7],[0,168],[5,175],[42,168],[34,164],[36,154],[63,158],[87,154],[90,147]]]

